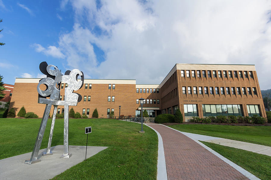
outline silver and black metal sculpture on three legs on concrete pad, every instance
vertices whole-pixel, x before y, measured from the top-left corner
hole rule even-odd
[[[53,69],[52,69],[53,68]],[[39,127],[38,136],[35,142],[35,146],[31,155],[30,160],[26,160],[25,164],[33,164],[41,160],[38,159],[39,149],[42,143],[42,138],[48,121],[49,113],[52,105],[54,105],[54,113],[51,124],[50,136],[48,140],[48,146],[46,152],[43,155],[51,155],[51,141],[53,137],[53,131],[55,126],[55,118],[57,113],[58,106],[64,106],[64,149],[63,155],[61,158],[70,158],[69,154],[69,143],[68,143],[68,134],[69,134],[69,106],[76,106],[77,102],[82,100],[82,96],[73,93],[73,91],[78,90],[83,87],[84,83],[84,74],[78,69],[73,69],[72,71],[68,70],[65,72],[65,75],[61,74],[61,71],[58,70],[58,67],[54,65],[48,65],[46,62],[42,62],[39,65],[39,69],[42,73],[47,75],[46,78],[43,78],[39,81],[37,86],[37,91],[39,93],[38,103],[46,104],[45,111],[42,117],[42,122]],[[81,80],[78,79],[78,76],[81,76]],[[78,81],[79,80],[79,81]],[[60,97],[60,85],[61,82],[68,84],[68,87],[65,88],[65,100],[59,101]],[[44,84],[46,90],[41,90],[40,85]],[[47,99],[46,97],[50,97]]]

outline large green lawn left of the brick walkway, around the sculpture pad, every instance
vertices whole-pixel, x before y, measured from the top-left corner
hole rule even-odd
[[[63,119],[56,119],[52,146],[63,144]],[[0,159],[32,152],[41,119],[0,119]],[[47,147],[48,120],[41,149]],[[85,127],[92,126],[88,146],[107,149],[53,179],[156,179],[157,134],[141,125],[108,119],[70,119],[69,145],[86,146]],[[139,170],[140,169],[140,170]]]

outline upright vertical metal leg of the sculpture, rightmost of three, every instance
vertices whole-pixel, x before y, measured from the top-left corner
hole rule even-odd
[[[64,144],[63,155],[60,158],[70,158],[69,154],[69,106],[64,105]]]

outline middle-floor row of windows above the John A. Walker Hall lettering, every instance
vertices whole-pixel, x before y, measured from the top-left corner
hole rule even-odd
[[[219,95],[219,94],[221,94],[221,95],[224,95],[225,94],[225,90],[226,90],[226,94],[227,95],[229,95],[229,94],[232,94],[232,95],[235,95],[235,94],[238,94],[238,95],[241,95],[241,93],[243,94],[243,95],[246,95],[246,94],[248,94],[248,95],[252,95],[252,92],[251,92],[251,88],[250,87],[247,87],[247,88],[245,88],[245,87],[236,87],[236,90],[235,90],[235,87],[225,87],[225,89],[224,89],[224,87],[193,87],[193,94],[203,94],[203,89],[202,88],[204,88],[204,94],[209,94],[209,92],[210,92],[210,94],[211,95],[213,95],[214,93],[216,94],[216,95]],[[241,91],[242,90],[242,91]],[[252,91],[253,91],[253,94],[254,95],[257,95],[257,90],[256,90],[256,88],[255,87],[253,87],[252,88]],[[192,94],[192,87],[185,87],[185,86],[183,86],[182,87],[182,94]]]

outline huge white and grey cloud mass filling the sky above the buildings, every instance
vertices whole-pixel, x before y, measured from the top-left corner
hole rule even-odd
[[[101,1],[98,9],[95,2],[71,2],[73,30],[52,46],[69,68],[159,84],[175,63],[255,64],[261,89],[271,88],[271,1]],[[93,44],[105,53],[101,64]]]

